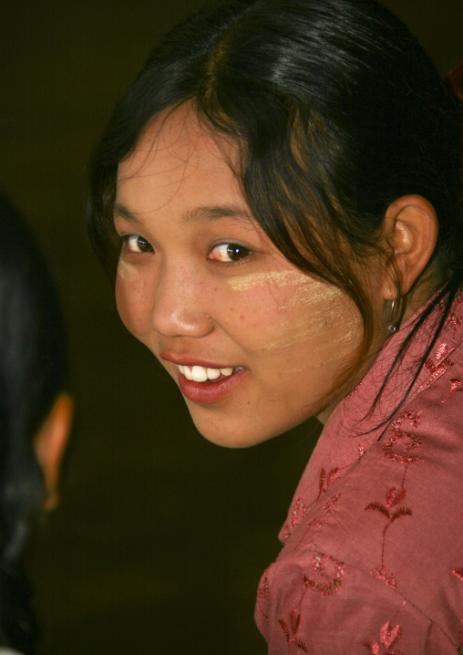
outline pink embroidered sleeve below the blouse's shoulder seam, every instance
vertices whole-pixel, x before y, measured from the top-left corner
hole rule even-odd
[[[322,553],[278,562],[256,607],[269,655],[446,655],[458,645],[406,598]],[[263,615],[262,615],[263,613]]]

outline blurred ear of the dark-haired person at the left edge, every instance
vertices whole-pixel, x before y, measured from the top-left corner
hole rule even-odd
[[[44,472],[46,510],[57,506],[59,469],[66,450],[73,414],[74,400],[67,393],[60,394],[34,442],[36,458]]]

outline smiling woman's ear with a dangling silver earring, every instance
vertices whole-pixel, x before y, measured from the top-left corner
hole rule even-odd
[[[434,207],[420,195],[405,195],[389,205],[383,237],[392,257],[386,269],[384,297],[406,293],[425,270],[437,243],[438,223]]]

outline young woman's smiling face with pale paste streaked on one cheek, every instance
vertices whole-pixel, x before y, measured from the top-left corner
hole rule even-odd
[[[116,296],[198,430],[247,446],[324,407],[362,324],[344,293],[304,275],[262,232],[223,145],[180,108],[119,164]]]

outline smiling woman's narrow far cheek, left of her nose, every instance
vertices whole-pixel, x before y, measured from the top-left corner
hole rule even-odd
[[[149,292],[142,278],[127,266],[118,265],[116,305],[125,327],[137,338],[149,330]]]

